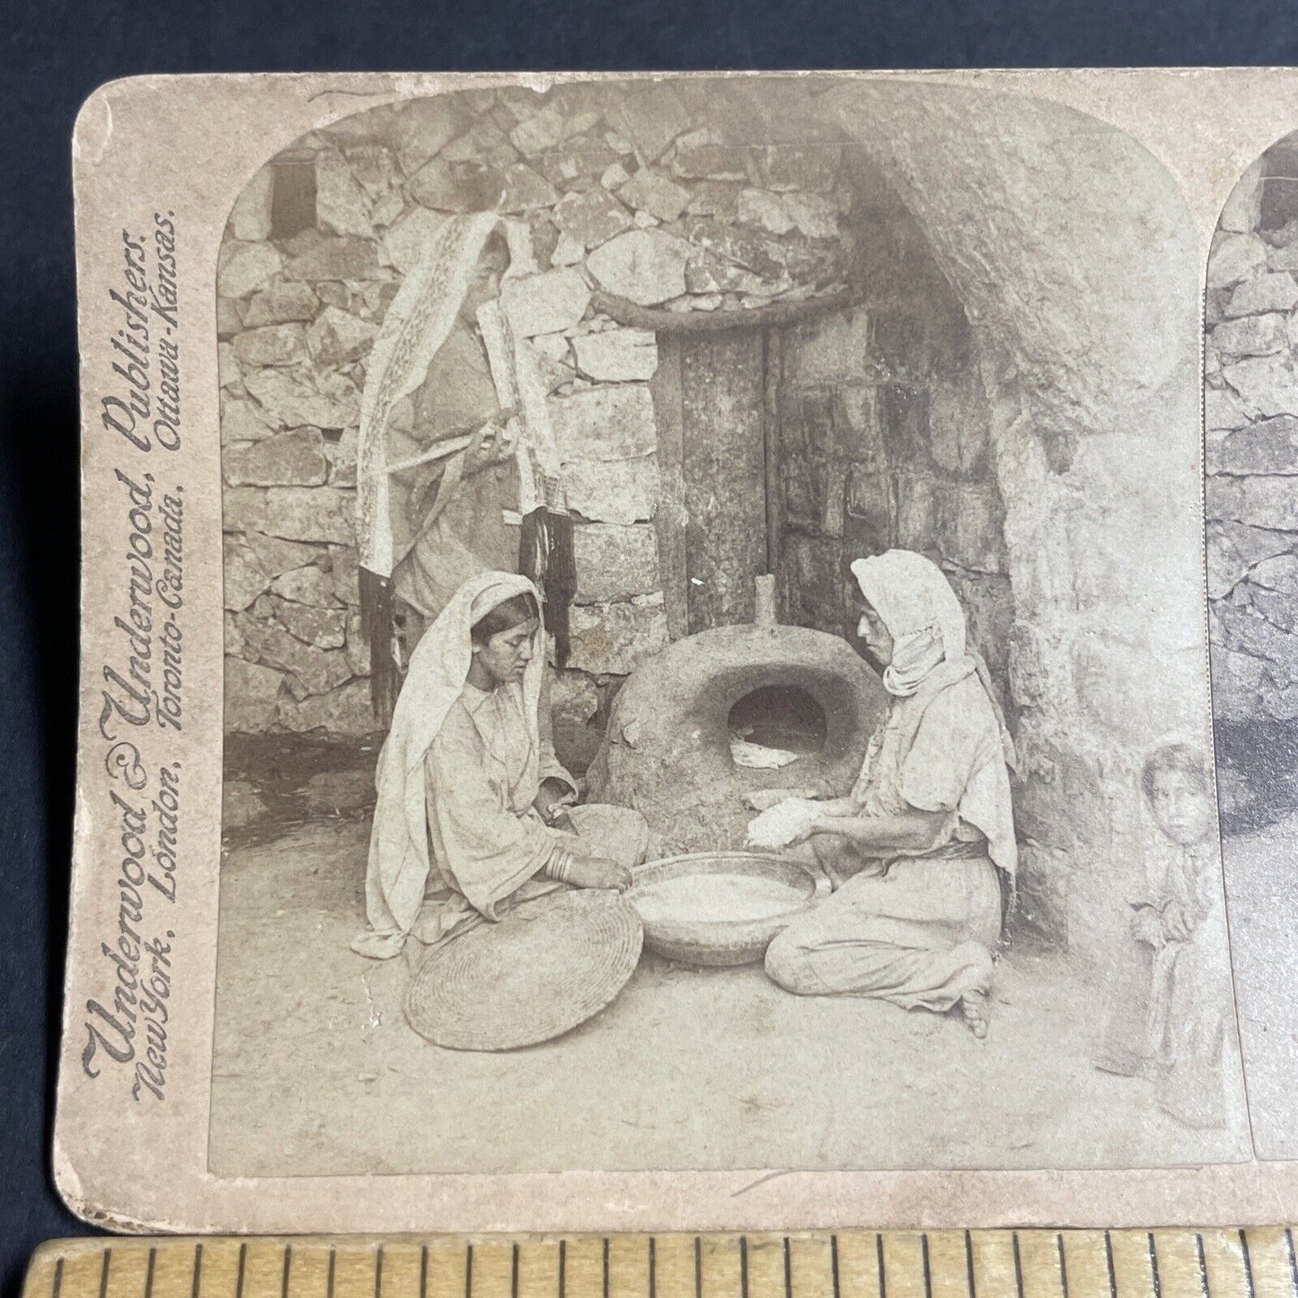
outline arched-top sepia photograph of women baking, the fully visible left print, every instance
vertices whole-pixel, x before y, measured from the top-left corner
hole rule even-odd
[[[1277,424],[1231,376],[1298,300],[1269,192],[1208,406]],[[266,157],[214,284],[210,1171],[1251,1158],[1201,274],[1153,153],[990,88],[518,84]],[[1220,697],[1292,598],[1237,482],[1219,739],[1290,719]]]

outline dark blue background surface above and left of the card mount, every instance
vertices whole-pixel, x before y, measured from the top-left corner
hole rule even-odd
[[[0,79],[0,1284],[87,1233],[51,1184],[77,701],[69,139],[134,73],[1288,64],[1298,0],[184,0],[3,10]]]

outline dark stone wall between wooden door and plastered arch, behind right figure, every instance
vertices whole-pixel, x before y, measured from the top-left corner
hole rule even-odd
[[[919,550],[1009,702],[1005,506],[968,322],[892,187],[859,152],[849,171],[862,300],[783,339],[780,617],[850,637],[845,561]]]

